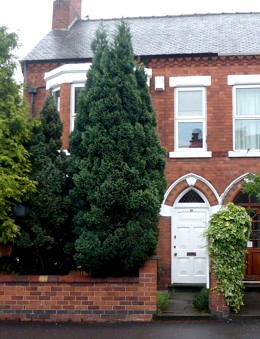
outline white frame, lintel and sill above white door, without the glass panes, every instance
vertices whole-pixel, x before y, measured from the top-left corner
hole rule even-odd
[[[174,152],[169,152],[170,158],[210,158],[212,152],[207,151],[207,95],[206,87],[211,85],[211,76],[186,76],[170,77],[169,86],[174,87],[175,118],[174,118]],[[178,91],[202,91],[202,116],[178,117]],[[178,128],[181,121],[202,122],[203,147],[202,148],[178,148]]]

